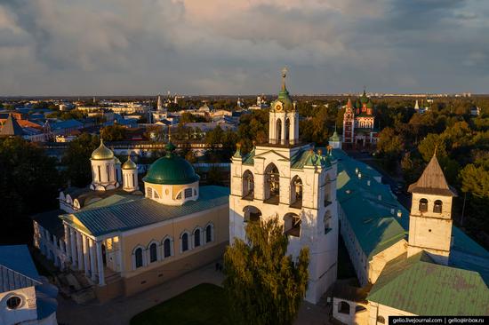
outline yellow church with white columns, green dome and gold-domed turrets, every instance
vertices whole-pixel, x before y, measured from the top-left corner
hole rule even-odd
[[[132,295],[221,258],[228,244],[226,187],[199,186],[173,153],[137,166],[100,143],[92,183],[60,193],[60,210],[34,217],[35,246],[60,269],[84,273],[100,301]]]

